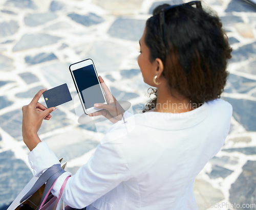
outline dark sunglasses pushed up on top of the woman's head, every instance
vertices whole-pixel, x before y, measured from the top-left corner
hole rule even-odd
[[[193,1],[193,2],[188,2],[185,4],[181,4],[181,5],[172,5],[166,8],[161,9],[157,14],[155,15],[160,15],[160,30],[161,30],[161,36],[163,38],[163,42],[165,45],[165,49],[166,49],[166,56],[168,55],[168,43],[167,43],[167,39],[166,39],[166,25],[165,25],[165,18],[164,18],[164,13],[170,9],[173,8],[177,8],[177,7],[183,7],[183,6],[196,6],[196,8],[198,9],[202,9],[202,4],[200,1]]]

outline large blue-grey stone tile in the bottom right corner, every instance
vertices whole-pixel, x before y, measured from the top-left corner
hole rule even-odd
[[[243,204],[256,203],[256,161],[248,160],[243,167],[243,172],[239,175],[238,179],[231,184],[229,190],[229,201],[237,203],[242,206]],[[242,209],[242,208],[238,208]],[[249,210],[255,210],[255,205],[248,206]]]

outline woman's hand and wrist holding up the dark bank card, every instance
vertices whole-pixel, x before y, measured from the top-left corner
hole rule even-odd
[[[23,141],[29,148],[33,150],[36,145],[41,142],[37,135],[39,128],[41,127],[42,121],[50,120],[51,112],[56,108],[46,108],[44,105],[40,104],[38,100],[40,99],[42,93],[46,89],[41,89],[37,92],[33,100],[29,105],[22,107],[23,120],[22,120],[22,135]]]

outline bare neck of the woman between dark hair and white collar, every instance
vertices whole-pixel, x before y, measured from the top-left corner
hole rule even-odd
[[[170,90],[164,85],[159,85],[157,89],[157,104],[154,111],[182,113],[191,110],[193,110],[193,106],[188,99],[174,89]]]

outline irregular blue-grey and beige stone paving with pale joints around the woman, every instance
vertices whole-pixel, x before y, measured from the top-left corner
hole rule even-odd
[[[181,1],[165,1],[180,3]],[[145,20],[157,0],[2,0],[0,3],[0,209],[32,178],[22,141],[22,111],[42,87],[67,83],[72,98],[39,132],[75,173],[109,127],[79,123],[71,63],[92,58],[113,95],[141,112],[148,100],[137,64]],[[195,181],[199,209],[256,209],[256,6],[205,0],[233,48],[223,99],[233,106],[229,135]],[[41,100],[44,103],[43,100]],[[236,204],[236,205],[234,205]],[[247,204],[247,206],[242,206]],[[240,207],[240,208],[239,208]]]

